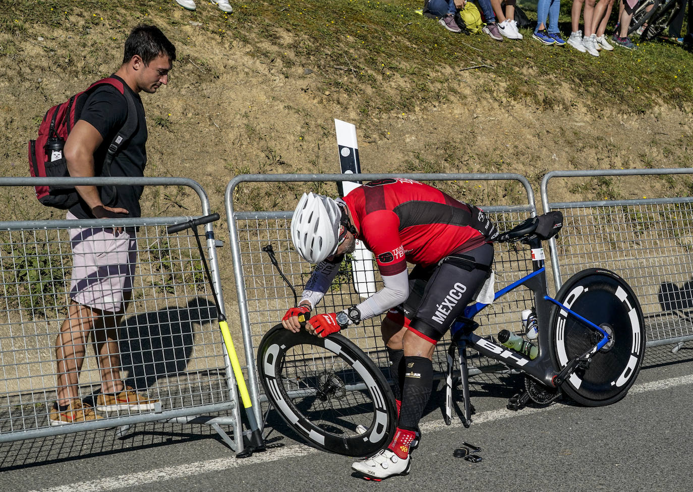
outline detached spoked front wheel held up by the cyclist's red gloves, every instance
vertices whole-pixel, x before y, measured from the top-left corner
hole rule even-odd
[[[274,409],[310,446],[368,457],[394,435],[397,410],[385,376],[338,333],[319,338],[274,326],[258,347],[258,374]]]

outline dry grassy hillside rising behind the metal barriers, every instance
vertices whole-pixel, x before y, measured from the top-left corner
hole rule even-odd
[[[523,141],[519,141],[510,153],[514,164],[509,164],[507,158],[504,161],[505,155],[494,145],[502,132],[484,130],[491,131],[488,141],[484,141],[484,135],[477,130],[481,126],[476,119],[477,105],[482,111],[514,105],[531,108],[537,118],[546,115],[545,130],[536,132],[536,145],[544,144],[540,133],[560,134],[556,145],[568,149],[565,168],[615,167],[624,166],[624,162],[631,167],[661,167],[672,164],[666,161],[670,155],[676,156],[674,164],[690,165],[690,158],[685,157],[690,128],[684,122],[680,136],[672,134],[664,143],[656,137],[657,129],[648,137],[643,134],[643,139],[649,139],[647,148],[633,150],[632,159],[627,156],[628,142],[614,143],[613,137],[597,137],[590,147],[579,129],[564,128],[561,122],[564,116],[573,120],[584,117],[590,124],[599,124],[601,119],[615,115],[637,118],[640,114],[690,112],[691,54],[667,42],[647,43],[638,51],[620,50],[596,59],[568,48],[546,47],[531,39],[497,43],[486,35],[448,33],[435,21],[417,14],[421,2],[414,0],[236,3],[232,15],[225,15],[203,0],[197,12],[183,11],[173,1],[164,0],[5,3],[9,8],[0,11],[0,72],[4,70],[0,91],[3,100],[10,101],[6,103],[10,105],[6,106],[9,116],[0,120],[5,142],[0,168],[5,175],[24,175],[25,142],[35,132],[45,109],[113,71],[123,39],[139,22],[159,25],[179,51],[173,73],[175,85],[168,87],[163,96],[157,94],[146,101],[149,172],[199,179],[198,174],[183,166],[186,159],[221,155],[221,166],[209,166],[202,173],[209,175],[212,189],[208,191],[216,195],[213,201],[217,208],[223,183],[232,174],[322,169],[320,144],[324,146],[325,141],[333,139],[324,114],[344,111],[358,115],[360,139],[378,146],[390,138],[383,121],[392,124],[398,119],[396,123],[404,125],[410,114],[429,109],[474,108],[462,113],[462,118],[475,118],[466,121],[468,135],[446,137],[439,146],[412,146],[410,154],[400,159],[401,165],[393,167],[386,162],[383,168],[369,167],[374,172],[515,170],[538,182],[549,168],[543,163],[534,164],[543,157],[523,150]],[[531,17],[533,12],[528,14]],[[563,14],[564,31],[568,20]],[[526,38],[529,34],[525,30]],[[462,70],[480,65],[484,67]],[[281,118],[286,119],[277,125],[267,123],[277,114],[258,112],[254,103],[232,97],[242,92],[241,86],[254,84],[258,98],[274,99],[273,94],[263,90],[265,85],[270,87],[267,80],[274,80],[274,85],[282,78],[294,82],[297,75],[303,76],[309,70],[313,71],[310,87],[306,82],[300,90],[311,94],[310,100],[295,98],[286,102],[285,98]],[[236,87],[229,87],[229,78]],[[225,99],[231,97],[218,105],[233,109],[213,116],[203,102],[219,98],[221,89],[226,91],[221,93]],[[11,107],[12,103],[18,107]],[[243,104],[248,109],[243,109]],[[323,113],[317,116],[316,108],[322,108]],[[225,122],[217,123],[216,117],[225,118]],[[206,121],[211,123],[204,126]],[[409,132],[416,131],[417,121],[423,124],[426,119],[412,117],[407,122]],[[207,129],[231,125],[240,128],[234,139],[198,142],[198,135],[207,138]],[[285,128],[291,132],[282,132]],[[278,143],[288,140],[290,143],[284,146]],[[198,152],[188,156],[188,148]],[[177,155],[182,157],[173,157]],[[580,155],[592,157],[586,164]],[[180,161],[178,167],[172,162],[175,159]],[[203,184],[207,185],[204,180]],[[606,193],[599,183],[592,188],[600,195],[619,196]],[[184,197],[169,194],[163,198],[165,204],[178,204]],[[493,200],[491,195],[477,198]],[[152,195],[150,200],[155,213],[164,211],[165,207],[159,207],[159,195]],[[245,198],[241,195],[240,200]],[[247,200],[254,201],[250,204],[254,208],[264,204],[258,195]],[[274,202],[283,205],[281,200]]]

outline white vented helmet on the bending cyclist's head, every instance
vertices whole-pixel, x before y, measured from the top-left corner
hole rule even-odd
[[[304,193],[291,218],[291,238],[299,254],[310,263],[320,263],[339,246],[342,211],[335,200]]]

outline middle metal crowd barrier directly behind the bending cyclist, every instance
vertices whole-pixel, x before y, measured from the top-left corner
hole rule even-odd
[[[525,177],[515,174],[407,174],[396,176],[363,174],[349,175],[348,178],[344,175],[241,175],[234,177],[226,189],[225,207],[233,254],[240,324],[245,344],[249,392],[258,421],[263,420],[260,415],[260,403],[265,401],[265,398],[258,387],[255,353],[264,333],[277,324],[286,310],[292,307],[295,302],[292,291],[281,279],[265,251],[267,245],[271,245],[279,267],[295,286],[297,295],[300,297],[303,286],[312,271],[311,265],[295,252],[290,239],[290,219],[301,193],[313,190],[336,197],[337,188],[333,186],[335,182],[346,180],[369,182],[374,179],[392,177],[439,182],[439,185],[440,182],[443,182],[443,186],[453,188],[446,190],[450,195],[463,201],[462,188],[457,188],[457,193],[455,193],[455,187],[458,184],[496,181],[508,186],[515,186],[515,194],[524,203],[495,207],[485,207],[484,204],[479,204],[495,220],[499,229],[511,229],[514,225],[536,213],[532,187]],[[252,195],[253,191],[257,190],[260,190],[262,196],[266,197],[262,202],[256,204],[260,210],[236,210],[234,198],[237,195],[244,193],[243,196]],[[277,197],[281,199],[278,200]],[[291,210],[268,211],[267,208],[272,201],[279,202],[276,208],[288,207]],[[374,263],[368,264],[374,265]],[[331,291],[317,306],[318,312],[329,313],[360,302],[360,295],[353,282],[353,274],[355,273],[353,269],[355,267],[353,264],[349,265],[349,262],[344,262],[344,270],[338,274]],[[382,281],[378,276],[377,267],[374,270],[375,288],[379,289],[382,286]],[[497,290],[531,271],[532,261],[529,249],[522,245],[518,249],[509,245],[496,245],[495,279]],[[531,306],[532,303],[531,291],[514,290],[502,301],[497,301],[477,316],[477,321],[482,325],[479,331],[482,331],[484,335],[495,335],[506,326],[517,326],[519,329],[520,311]],[[368,319],[358,326],[347,328],[343,333],[368,353],[376,365],[384,371],[385,376],[389,377],[389,360],[385,346],[380,339],[380,320],[381,317]],[[439,371],[445,370],[445,349],[448,345],[446,342],[448,340],[438,344],[434,356],[434,362],[438,364]],[[471,364],[480,367],[484,364],[488,365],[489,361],[476,357],[472,358]]]

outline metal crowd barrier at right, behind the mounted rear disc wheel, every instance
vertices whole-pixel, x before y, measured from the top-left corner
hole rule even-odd
[[[642,304],[647,345],[693,340],[693,198],[656,197],[656,186],[633,200],[557,202],[554,190],[577,189],[576,179],[628,179],[674,175],[693,169],[552,171],[541,182],[544,210],[563,212],[552,252],[556,289],[561,279],[590,266],[606,267],[631,285]],[[632,181],[631,181],[632,182]],[[571,186],[572,185],[572,186]],[[623,188],[623,186],[621,186]]]

